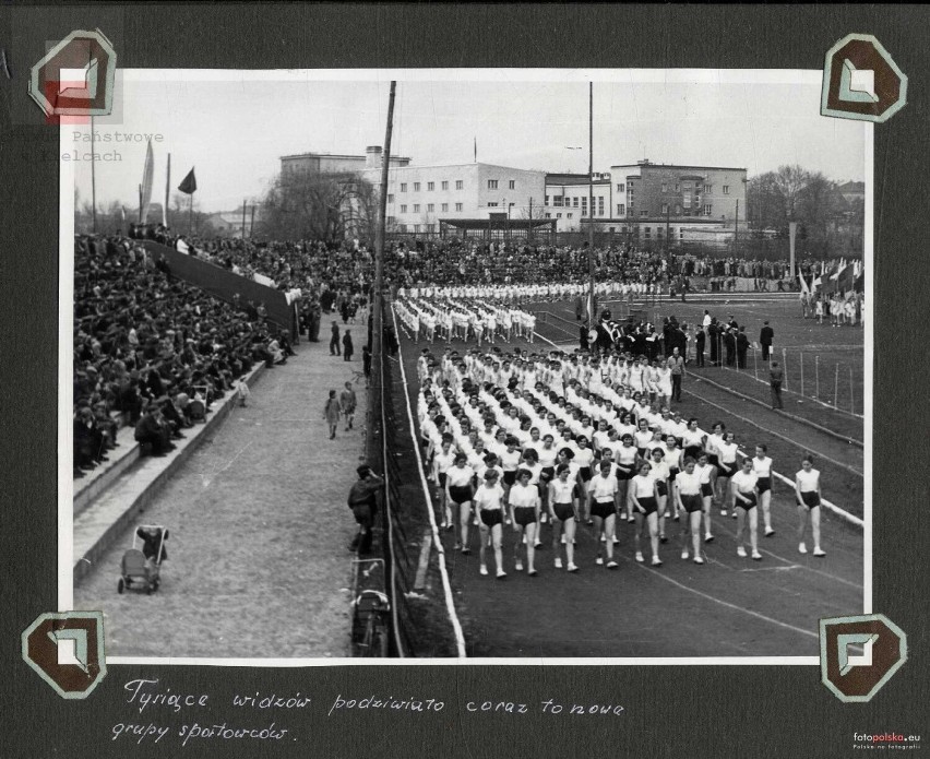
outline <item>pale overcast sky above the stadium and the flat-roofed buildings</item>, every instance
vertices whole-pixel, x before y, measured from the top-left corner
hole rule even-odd
[[[153,201],[164,199],[170,152],[172,194],[196,166],[195,201],[204,211],[228,211],[241,207],[245,198],[260,198],[282,155],[363,154],[367,145],[384,142],[389,84],[383,73],[356,73],[356,81],[320,81],[319,72],[279,74],[288,81],[249,80],[236,72],[122,73],[115,116],[96,120],[100,206],[114,200],[128,209],[138,205],[145,142],[115,142],[117,134],[162,135],[153,143]],[[800,164],[837,181],[865,179],[866,127],[820,116],[819,72],[760,72],[767,83],[734,81],[748,78],[734,73],[702,72],[689,81],[682,72],[598,72],[594,170],[648,158],[746,167],[750,177]],[[139,75],[152,81],[134,79]],[[803,83],[778,83],[792,78]],[[78,131],[90,128],[65,128],[62,147],[90,152],[88,142],[72,142]],[[586,171],[587,80],[576,71],[555,70],[446,72],[429,81],[398,74],[392,153],[419,165],[470,163],[474,140],[479,162]],[[105,158],[114,152],[120,161]],[[90,200],[91,163],[79,161],[74,168],[81,200]]]

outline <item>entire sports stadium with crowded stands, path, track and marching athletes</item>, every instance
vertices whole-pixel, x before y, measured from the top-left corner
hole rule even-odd
[[[282,185],[195,223],[200,168],[158,218],[151,145],[138,217],[74,209],[62,582],[108,652],[815,656],[871,593],[862,240],[610,229],[593,171],[579,229],[402,230],[384,142],[317,234]]]

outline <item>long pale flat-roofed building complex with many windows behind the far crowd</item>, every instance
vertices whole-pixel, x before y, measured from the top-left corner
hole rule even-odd
[[[282,174],[359,174],[380,187],[383,152],[282,156]],[[437,233],[440,222],[555,220],[558,232],[624,234],[641,242],[724,239],[746,220],[744,168],[640,161],[610,173],[547,174],[472,163],[416,166],[391,156],[388,221],[397,232]],[[593,191],[593,204],[592,203]],[[591,204],[591,207],[588,207]]]

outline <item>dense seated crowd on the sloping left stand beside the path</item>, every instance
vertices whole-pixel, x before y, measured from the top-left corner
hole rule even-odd
[[[259,360],[286,357],[249,319],[171,276],[134,240],[74,244],[74,476],[107,460],[118,415],[162,455]]]

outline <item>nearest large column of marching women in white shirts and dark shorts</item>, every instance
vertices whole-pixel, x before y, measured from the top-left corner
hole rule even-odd
[[[454,548],[472,552],[479,527],[479,572],[489,574],[492,548],[498,578],[504,568],[504,527],[514,531],[516,571],[539,571],[544,530],[556,550],[552,565],[569,572],[583,564],[577,525],[593,527],[596,566],[618,568],[618,525],[632,525],[633,558],[663,566],[669,523],[679,522],[681,558],[703,565],[714,541],[712,512],[737,520],[737,555],[762,560],[763,534],[775,534],[773,462],[766,447],[742,454],[732,431],[717,423],[704,431],[668,406],[645,357],[526,354],[518,348],[424,348],[417,360],[417,414],[438,521],[455,531]],[[666,367],[668,369],[668,367]],[[808,522],[813,555],[820,536],[820,475],[810,459],[796,476],[799,552]],[[761,520],[759,514],[761,512]],[[749,550],[747,550],[747,546]],[[564,549],[564,561],[562,555]]]

